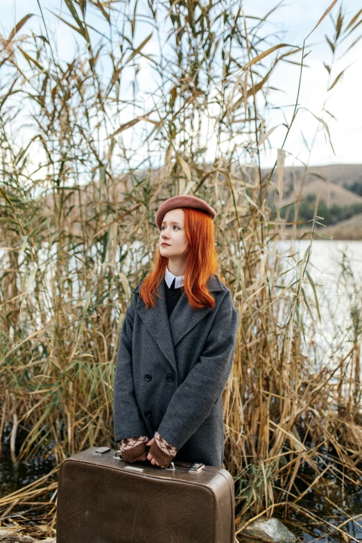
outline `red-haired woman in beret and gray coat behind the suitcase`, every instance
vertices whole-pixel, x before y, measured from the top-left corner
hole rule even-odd
[[[195,196],[157,210],[154,269],[132,291],[114,376],[114,438],[126,462],[222,467],[222,393],[239,318],[216,274],[215,216]]]

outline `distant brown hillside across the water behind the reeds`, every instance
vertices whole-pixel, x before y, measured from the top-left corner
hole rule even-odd
[[[249,186],[255,185],[256,173],[255,167],[243,167],[243,175],[247,178]],[[266,182],[270,171],[262,170],[261,173],[264,182]],[[158,174],[159,171],[156,170],[153,175],[157,176]],[[136,177],[141,178],[142,175],[144,172],[139,171]],[[293,202],[300,198],[300,187],[302,186],[302,196],[298,202],[300,221],[310,221],[313,218],[318,198],[318,215],[323,217],[323,223],[326,225],[326,228],[321,227],[322,232],[329,233],[328,227],[331,228],[330,232],[333,232],[331,235],[334,236],[334,239],[362,239],[362,227],[358,218],[362,214],[362,164],[313,166],[307,175],[304,175],[302,183],[303,175],[304,169],[300,166],[286,168],[283,182],[284,196],[283,198],[275,198],[277,184],[277,170],[275,169],[272,177],[273,185],[268,192],[268,205],[272,207],[275,216],[277,209],[279,209],[284,220],[293,221]],[[241,173],[234,173],[234,179],[235,177],[241,179]],[[63,191],[62,196],[59,194],[42,196],[40,200],[42,200],[42,208],[46,215],[56,214],[59,207],[62,207],[64,216],[67,216],[66,227],[74,235],[81,233],[80,215],[83,216],[83,219],[87,218],[87,226],[91,230],[98,232],[103,231],[104,225],[98,223],[98,214],[94,212],[94,202],[98,202],[98,207],[101,207],[104,200],[110,199],[114,202],[115,209],[121,209],[125,193],[132,191],[132,183],[129,175],[123,175],[107,187],[103,183],[92,182],[81,187],[69,187],[69,190]],[[234,180],[234,183],[236,186],[239,184],[237,180]],[[240,182],[240,187],[244,187],[244,182]],[[243,202],[240,204],[242,206]],[[110,221],[111,218],[112,216],[110,216]],[[302,228],[298,229],[298,236],[304,232]],[[286,234],[288,235],[288,229]]]

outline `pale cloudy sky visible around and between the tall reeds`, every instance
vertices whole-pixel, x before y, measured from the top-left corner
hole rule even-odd
[[[51,15],[51,10],[60,14],[61,9],[61,15],[64,16],[67,14],[67,8],[60,0],[39,0],[39,3],[42,6],[44,17],[47,21],[49,20],[51,30],[56,33],[60,55],[64,60],[68,60],[74,53],[74,37],[69,33],[65,24]],[[270,17],[267,28],[270,30],[270,33],[274,31],[282,33],[284,42],[302,46],[304,38],[311,32],[330,3],[330,1],[324,0],[284,1]],[[37,0],[0,0],[0,4],[0,32],[2,35],[8,36],[15,23],[27,13],[33,13],[36,17],[29,19],[26,26],[23,27],[24,32],[28,28],[36,28],[37,21],[40,21],[40,8]],[[276,2],[270,0],[245,0],[243,10],[248,15],[264,16],[266,11],[272,9],[275,5]],[[347,19],[350,19],[362,8],[361,0],[345,0],[343,3],[338,1],[331,13],[335,14],[341,5],[347,13]],[[92,13],[94,14],[94,10],[89,10],[89,20],[87,19],[87,22],[94,24],[98,28],[97,19],[94,18],[94,15],[91,15]],[[145,31],[150,32],[146,25],[141,29],[141,33]],[[305,51],[310,51],[310,53],[305,61],[307,67],[302,74],[302,87],[299,98],[302,109],[298,112],[284,146],[287,166],[293,164],[298,166],[303,163],[309,163],[312,166],[362,163],[362,108],[360,103],[362,88],[362,40],[347,55],[341,55],[346,47],[341,48],[332,71],[332,80],[345,67],[348,67],[348,69],[334,89],[327,93],[328,74],[325,67],[323,67],[323,62],[329,64],[331,50],[329,49],[325,35],[331,36],[332,32],[331,21],[329,16],[327,16],[307,40]],[[362,24],[359,27],[359,33],[362,33]],[[355,37],[358,35],[357,31]],[[141,42],[141,38],[142,36],[140,35],[139,42]],[[346,42],[346,44],[350,43],[351,41]],[[150,53],[151,51],[155,51],[157,46],[157,42],[150,40],[147,44],[148,49],[144,51]],[[268,130],[273,126],[277,128],[270,135],[270,148],[268,148],[269,146],[266,146],[266,149],[264,147],[261,148],[262,166],[273,165],[277,157],[277,148],[282,146],[286,135],[286,128],[282,126],[282,123],[291,119],[299,76],[300,69],[293,64],[280,62],[275,70],[271,84],[282,89],[282,91],[273,92],[272,98],[276,109],[268,112],[266,116],[266,129]],[[147,78],[144,78],[143,83],[144,85],[150,85],[150,81]],[[336,117],[336,120],[334,120],[329,119],[328,116],[324,116],[329,127],[335,155],[329,141],[326,140],[326,130],[321,129],[322,125],[316,119],[316,117],[323,117],[322,105],[327,96],[327,105],[325,107]],[[278,107],[284,108],[286,117],[284,117],[284,114],[282,114],[282,111]],[[130,114],[130,118],[132,118],[132,114]],[[309,153],[304,141],[307,141],[307,145],[310,145],[315,135],[316,140]],[[210,144],[209,155],[212,157],[212,144]]]

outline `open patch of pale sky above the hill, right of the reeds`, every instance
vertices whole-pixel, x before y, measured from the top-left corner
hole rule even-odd
[[[280,8],[273,16],[275,28],[285,32],[287,43],[301,45],[330,3],[321,0],[289,0],[288,5]],[[247,5],[248,3],[245,3],[245,10],[247,10]],[[336,12],[340,5],[341,2],[337,2],[332,13]],[[266,3],[261,1],[250,2],[251,6],[255,15],[261,15],[266,9]],[[347,13],[347,20],[349,20],[362,8],[361,0],[345,1],[343,2],[343,8]],[[362,32],[361,27],[362,25],[359,27],[356,37]],[[311,51],[311,53],[305,60],[309,68],[304,70],[302,74],[299,103],[317,117],[322,117],[322,107],[327,97],[328,73],[323,66],[323,62],[329,64],[331,58],[331,50],[325,39],[326,34],[331,36],[331,28],[331,20],[328,15],[306,42],[306,51]],[[350,44],[351,40],[346,43]],[[319,130],[311,155],[305,150],[301,132],[310,144],[316,128],[318,126],[321,128],[321,125],[311,113],[302,110],[298,112],[295,128],[291,129],[291,137],[288,138],[285,146],[286,151],[293,153],[296,157],[293,162],[295,165],[300,164],[299,160],[309,161],[311,165],[362,163],[362,107],[360,98],[362,88],[362,40],[344,58],[338,58],[345,49],[347,49],[347,46],[343,46],[341,52],[336,55],[337,60],[331,72],[331,80],[333,81],[345,67],[349,66],[349,68],[334,89],[331,89],[331,92],[328,93],[327,104],[325,105],[326,109],[337,119],[335,121],[325,117],[336,155],[331,150],[331,146],[326,144],[325,130]],[[279,71],[275,74],[275,86],[282,87],[285,94],[279,94],[278,105],[295,103],[298,77],[299,70],[297,67],[292,67],[290,64],[282,64],[279,67]],[[275,116],[270,117],[268,126],[269,128],[276,126],[279,122],[282,122],[282,118],[275,114]],[[274,162],[275,148],[280,146],[283,141],[285,130],[284,127],[278,127],[270,137],[274,147],[271,153],[273,159],[271,162]],[[292,160],[290,156],[288,164],[292,164]]]

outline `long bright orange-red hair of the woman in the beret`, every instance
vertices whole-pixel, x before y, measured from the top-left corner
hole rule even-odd
[[[193,309],[209,306],[215,307],[214,297],[207,290],[207,279],[210,275],[217,277],[226,284],[224,279],[216,273],[218,270],[218,254],[215,248],[214,223],[212,218],[200,209],[182,207],[184,210],[184,232],[189,241],[187,260],[184,268],[184,291]],[[139,289],[139,295],[144,300],[146,308],[155,308],[155,295],[160,298],[157,289],[164,279],[166,266],[169,262],[163,257],[157,245],[153,257],[153,271],[151,271]]]

